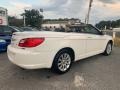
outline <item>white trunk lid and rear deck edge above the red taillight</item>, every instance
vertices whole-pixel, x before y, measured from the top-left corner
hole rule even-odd
[[[12,35],[11,45],[16,48],[21,39],[25,38],[63,38],[67,33],[50,32],[50,31],[35,31],[35,32],[16,32]]]

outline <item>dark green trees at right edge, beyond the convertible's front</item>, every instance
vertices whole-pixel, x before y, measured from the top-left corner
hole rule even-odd
[[[100,21],[95,25],[97,28],[103,30],[120,27],[120,19],[116,21]]]

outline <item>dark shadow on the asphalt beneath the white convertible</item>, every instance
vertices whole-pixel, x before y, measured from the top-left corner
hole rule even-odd
[[[101,58],[101,57],[104,57],[104,56],[99,54],[99,55],[96,55],[93,57],[89,57],[89,58],[74,62],[70,71],[65,74],[62,74],[62,75],[53,73],[50,69],[26,70],[26,69],[19,68],[15,65],[14,66],[12,65],[12,69],[14,69],[14,71],[16,72],[16,75],[18,75],[22,78],[31,78],[32,77],[32,78],[39,78],[39,79],[40,78],[41,79],[50,79],[50,78],[54,78],[54,77],[66,76],[68,74],[69,74],[69,76],[70,75],[72,76],[72,74],[74,74],[76,72],[82,73],[82,68],[85,64],[92,63],[92,62],[96,61],[97,58]]]

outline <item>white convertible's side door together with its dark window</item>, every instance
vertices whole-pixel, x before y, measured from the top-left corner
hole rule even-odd
[[[86,54],[93,55],[103,51],[105,48],[104,35],[92,25],[87,25],[84,28],[86,37]]]

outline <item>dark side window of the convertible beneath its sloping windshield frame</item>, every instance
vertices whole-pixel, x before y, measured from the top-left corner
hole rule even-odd
[[[91,25],[88,25],[88,26],[84,27],[84,32],[85,33],[90,33],[90,34],[100,35],[100,31],[98,31],[96,28],[94,28]]]

